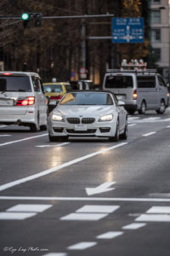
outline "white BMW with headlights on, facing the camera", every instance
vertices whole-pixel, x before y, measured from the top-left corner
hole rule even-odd
[[[127,111],[124,102],[105,90],[72,91],[62,97],[48,117],[49,141],[68,137],[127,139]]]

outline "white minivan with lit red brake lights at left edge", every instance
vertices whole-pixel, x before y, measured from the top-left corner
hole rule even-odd
[[[37,73],[0,72],[0,124],[47,130],[48,106]]]

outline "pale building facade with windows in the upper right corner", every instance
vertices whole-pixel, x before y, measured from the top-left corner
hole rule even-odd
[[[150,57],[161,69],[166,82],[170,79],[170,0],[150,0]]]

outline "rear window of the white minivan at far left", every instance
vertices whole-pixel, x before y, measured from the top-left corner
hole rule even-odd
[[[0,91],[31,91],[29,77],[0,76]]]

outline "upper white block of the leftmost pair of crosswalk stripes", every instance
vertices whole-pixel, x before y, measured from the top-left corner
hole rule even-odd
[[[52,207],[52,205],[20,204],[8,208],[7,212],[43,212],[49,207]]]

